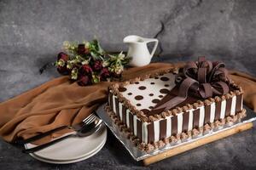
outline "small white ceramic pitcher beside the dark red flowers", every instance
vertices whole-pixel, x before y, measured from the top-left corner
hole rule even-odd
[[[158,45],[158,39],[139,36],[127,36],[124,42],[129,45],[127,56],[131,57],[131,66],[148,65]],[[148,51],[148,42],[154,42],[151,53]]]

